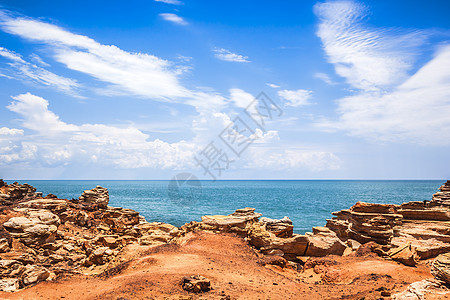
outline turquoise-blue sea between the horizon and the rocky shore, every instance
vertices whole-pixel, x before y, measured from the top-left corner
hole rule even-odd
[[[13,180],[8,180],[12,183]],[[180,189],[165,180],[19,180],[44,195],[78,198],[96,185],[108,188],[110,206],[131,208],[147,221],[181,226],[200,221],[208,214],[230,214],[237,208],[254,207],[265,217],[288,216],[296,233],[323,226],[331,212],[346,209],[357,201],[401,204],[431,200],[444,181],[361,181],[361,180],[223,180],[181,182]],[[180,197],[176,197],[176,195]],[[175,196],[174,196],[175,195]]]

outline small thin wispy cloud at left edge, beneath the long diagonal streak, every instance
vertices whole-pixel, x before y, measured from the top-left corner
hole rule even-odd
[[[12,61],[8,63],[14,70],[15,77],[8,76],[10,78],[15,79],[31,79],[34,82],[46,85],[53,86],[60,91],[63,91],[69,95],[79,97],[77,90],[80,85],[76,80],[62,77],[56,75],[44,68],[41,68],[35,64],[29,63],[25,61],[19,54],[0,47],[0,56]],[[39,58],[39,56],[32,56],[34,59]],[[40,59],[40,58],[39,58]],[[41,62],[45,64],[44,62]],[[13,71],[11,70],[11,71]]]

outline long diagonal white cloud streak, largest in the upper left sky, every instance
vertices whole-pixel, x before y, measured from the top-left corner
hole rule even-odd
[[[104,90],[166,101],[191,96],[179,82],[183,68],[169,61],[102,45],[87,36],[41,21],[4,15],[0,19],[4,31],[48,44],[58,62],[110,84]]]

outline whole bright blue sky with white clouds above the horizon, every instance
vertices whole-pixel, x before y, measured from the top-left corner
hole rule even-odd
[[[2,0],[0,178],[450,178],[449,13]],[[283,112],[262,129],[244,111],[260,92]],[[252,141],[239,156],[225,128]]]

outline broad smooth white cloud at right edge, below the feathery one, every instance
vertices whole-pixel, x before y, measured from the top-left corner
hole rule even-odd
[[[369,140],[450,144],[450,46],[392,92],[363,92],[338,100],[339,119],[321,128]]]

